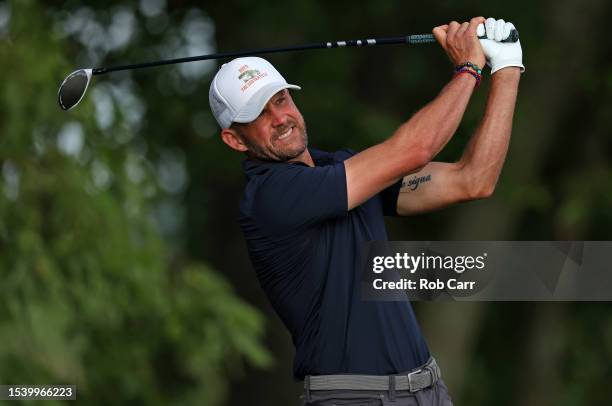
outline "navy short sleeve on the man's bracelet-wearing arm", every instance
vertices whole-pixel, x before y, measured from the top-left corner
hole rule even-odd
[[[263,229],[285,234],[345,216],[347,202],[343,162],[315,167],[288,164],[261,179],[251,215]]]

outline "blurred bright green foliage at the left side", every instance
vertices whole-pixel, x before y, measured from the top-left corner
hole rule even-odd
[[[152,215],[168,193],[134,129],[102,129],[91,103],[58,109],[72,66],[50,11],[19,1],[10,12],[0,382],[75,384],[88,404],[219,404],[242,359],[270,363],[262,316],[210,265],[173,256]]]

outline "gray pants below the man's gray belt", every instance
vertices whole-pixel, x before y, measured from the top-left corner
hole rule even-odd
[[[310,391],[310,402],[306,402],[304,396],[301,398],[304,406],[453,406],[442,379],[432,387],[413,393],[407,390],[394,394],[390,391],[321,390]]]

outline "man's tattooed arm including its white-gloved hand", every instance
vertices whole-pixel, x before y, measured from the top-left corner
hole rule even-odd
[[[404,178],[397,199],[398,214],[422,213],[493,193],[508,150],[520,72],[524,70],[520,42],[500,42],[511,29],[511,23],[487,20],[490,39],[483,40],[483,47],[493,74],[483,118],[459,161],[431,162]]]

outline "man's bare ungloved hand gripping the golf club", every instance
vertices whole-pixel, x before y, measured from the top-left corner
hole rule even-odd
[[[459,24],[451,21],[433,29],[433,35],[448,55],[453,66],[472,62],[480,67],[485,64],[485,54],[482,49],[476,29],[485,22],[484,17],[474,17],[470,22]]]

